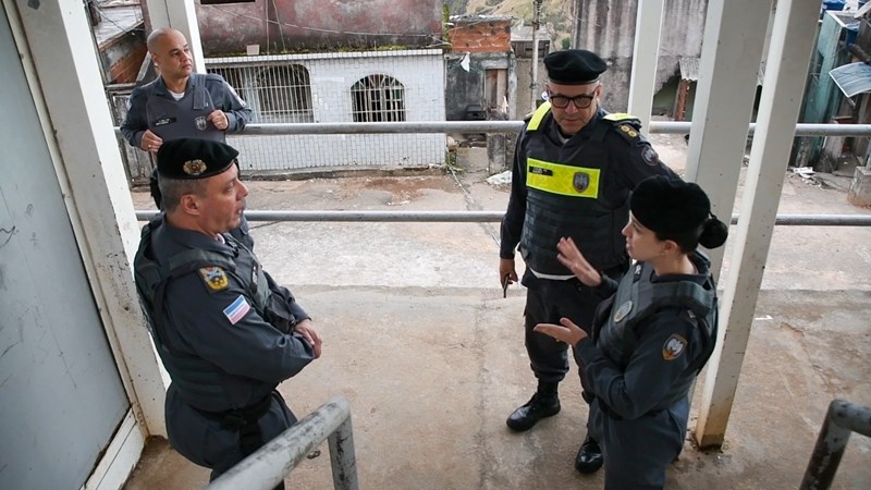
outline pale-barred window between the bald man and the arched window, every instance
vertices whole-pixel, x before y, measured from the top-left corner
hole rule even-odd
[[[259,120],[265,123],[314,122],[308,70],[299,64],[269,66],[257,75]]]

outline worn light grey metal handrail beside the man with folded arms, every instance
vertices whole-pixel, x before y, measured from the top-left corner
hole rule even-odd
[[[267,442],[225,474],[212,481],[208,490],[269,490],[284,481],[306,455],[324,439],[330,444],[333,488],[357,490],[357,461],[351,428],[351,406],[336,396],[296,422],[275,439]]]

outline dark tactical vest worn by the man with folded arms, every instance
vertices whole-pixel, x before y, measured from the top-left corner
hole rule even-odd
[[[273,295],[269,281],[261,267],[257,268],[255,278],[241,278],[232,256],[214,250],[191,249],[174,255],[167,264],[158,264],[150,250],[151,231],[160,225],[162,218],[157,218],[143,228],[142,241],[134,259],[134,277],[148,330],[155,346],[163,362],[163,366],[179,388],[182,397],[191,406],[201,411],[213,412],[216,406],[226,405],[226,395],[221,380],[225,373],[211,363],[173,346],[168,342],[168,316],[165,311],[165,290],[172,279],[181,278],[203,267],[218,266],[228,275],[236,278],[248,290],[248,297],[254,308],[262,318],[270,318],[270,304]],[[224,235],[232,246],[242,246],[234,238]],[[274,324],[274,323],[273,323]],[[292,324],[287,327],[287,331]],[[285,331],[286,333],[286,331]]]

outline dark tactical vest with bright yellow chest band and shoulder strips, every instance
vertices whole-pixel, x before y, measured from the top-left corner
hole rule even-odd
[[[550,103],[543,103],[526,127],[524,261],[537,272],[571,274],[556,259],[556,243],[571,236],[597,269],[628,264],[621,234],[628,221],[628,191],[617,195],[614,186],[603,185],[603,179],[614,179],[604,139],[609,131],[629,127],[637,120],[626,114],[606,115],[590,127],[587,140],[561,147],[540,131],[549,112]],[[631,131],[638,137],[637,131]]]

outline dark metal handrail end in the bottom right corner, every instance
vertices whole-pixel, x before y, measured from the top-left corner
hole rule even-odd
[[[817,445],[801,480],[800,490],[822,490],[832,487],[841,457],[847,449],[851,432],[871,437],[871,408],[833,400],[817,437]]]

